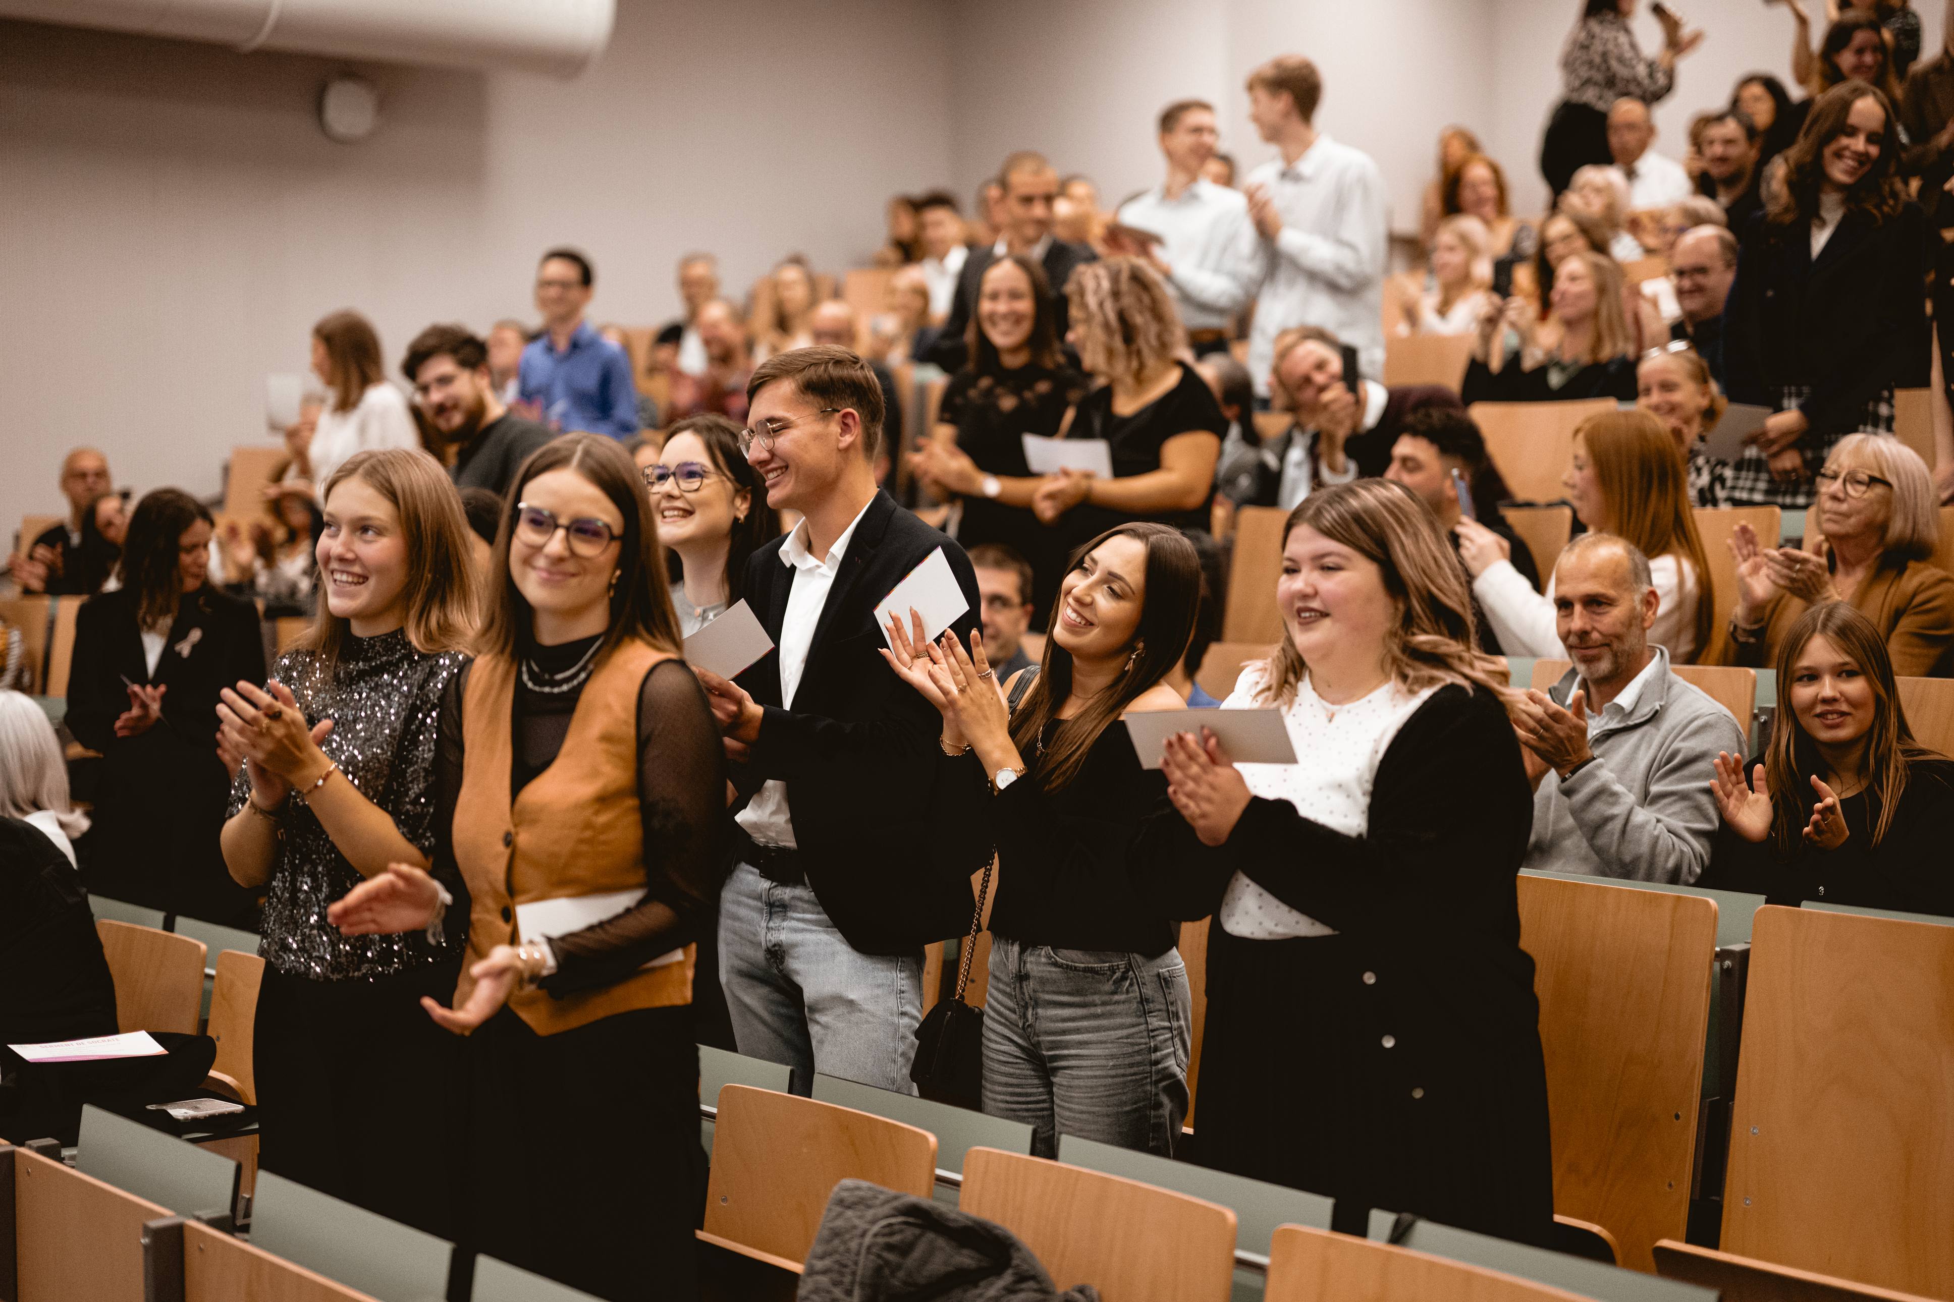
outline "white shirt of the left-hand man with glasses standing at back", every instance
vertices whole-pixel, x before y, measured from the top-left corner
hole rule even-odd
[[[1120,205],[1120,224],[1161,236],[1167,287],[1188,330],[1227,330],[1254,297],[1256,234],[1239,189],[1194,182],[1168,199],[1155,185]]]

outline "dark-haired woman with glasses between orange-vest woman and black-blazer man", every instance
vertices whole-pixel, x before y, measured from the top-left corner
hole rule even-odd
[[[746,556],[780,537],[780,515],[725,416],[672,426],[657,465],[645,467],[645,486],[658,541],[678,556],[672,609],[690,638],[744,595]]]

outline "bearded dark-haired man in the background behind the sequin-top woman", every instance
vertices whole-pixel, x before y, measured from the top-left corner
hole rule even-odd
[[[502,494],[530,453],[557,437],[547,426],[510,414],[488,371],[488,346],[465,326],[422,330],[406,346],[401,373],[442,439],[438,455],[455,488]]]

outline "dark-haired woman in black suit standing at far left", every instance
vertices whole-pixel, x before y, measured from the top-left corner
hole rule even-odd
[[[258,609],[207,582],[209,543],[211,513],[188,492],[158,488],[137,502],[121,588],[90,597],[74,621],[66,722],[102,752],[96,826],[82,843],[90,884],[233,921],[252,900],[217,845],[231,793],[217,693],[264,681],[264,640]]]

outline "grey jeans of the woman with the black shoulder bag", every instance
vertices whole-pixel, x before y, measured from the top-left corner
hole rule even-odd
[[[983,1111],[1059,1134],[1172,1156],[1188,1115],[1194,1003],[1180,951],[1155,958],[991,937]]]

